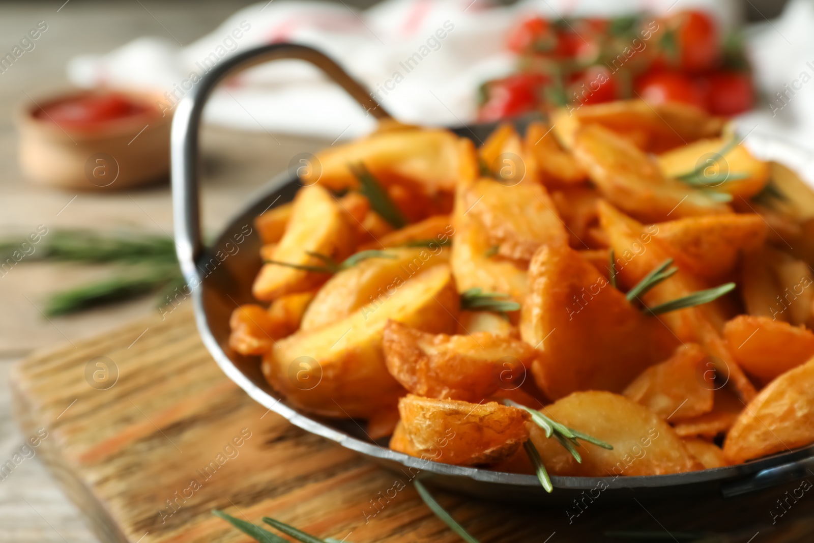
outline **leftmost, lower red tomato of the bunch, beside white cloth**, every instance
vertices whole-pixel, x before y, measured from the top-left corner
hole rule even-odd
[[[532,111],[539,103],[540,88],[550,78],[542,74],[520,73],[486,84],[487,99],[478,118],[484,122],[514,117]]]

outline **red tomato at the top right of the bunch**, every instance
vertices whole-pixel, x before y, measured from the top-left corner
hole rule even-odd
[[[718,28],[703,11],[683,11],[676,15],[679,65],[688,72],[704,72],[716,67],[720,59]]]

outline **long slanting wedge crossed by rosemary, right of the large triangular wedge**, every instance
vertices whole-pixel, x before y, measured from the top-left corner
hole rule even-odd
[[[599,204],[599,217],[615,250],[618,278],[624,287],[635,285],[671,255],[667,250],[669,243],[656,242],[659,239],[659,225],[645,227],[605,202]],[[652,307],[677,300],[708,287],[691,274],[686,274],[681,265],[678,267],[677,274],[642,297],[646,305]],[[710,361],[714,362],[717,375],[731,382],[745,401],[755,397],[755,386],[737,366],[720,333],[726,321],[720,304],[713,302],[662,313],[658,321],[669,327],[682,342],[701,344],[710,355]]]

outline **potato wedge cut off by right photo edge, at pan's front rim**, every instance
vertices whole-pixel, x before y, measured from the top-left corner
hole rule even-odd
[[[737,464],[814,442],[814,359],[786,371],[749,402],[724,441]]]

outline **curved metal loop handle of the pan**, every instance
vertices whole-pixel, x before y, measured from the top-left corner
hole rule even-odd
[[[184,278],[190,286],[196,286],[200,282],[196,264],[204,249],[200,230],[198,186],[198,136],[204,104],[215,86],[225,77],[257,64],[278,59],[300,59],[312,63],[356,99],[366,112],[380,120],[390,118],[387,111],[363,85],[350,77],[339,64],[311,47],[275,43],[234,55],[212,68],[178,103],[170,137],[175,251]]]

